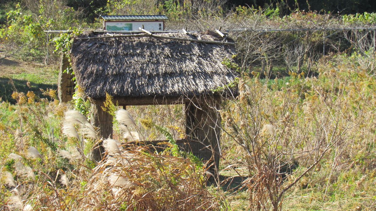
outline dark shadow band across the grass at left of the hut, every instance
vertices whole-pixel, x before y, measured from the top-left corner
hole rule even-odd
[[[40,89],[57,89],[56,84],[32,82],[28,84],[27,82],[28,81],[26,80],[0,77],[0,98],[2,98],[3,101],[15,103],[16,101],[12,99],[13,92],[24,92],[26,94],[28,91],[33,91],[39,98],[49,99],[49,97],[42,95],[42,91]]]

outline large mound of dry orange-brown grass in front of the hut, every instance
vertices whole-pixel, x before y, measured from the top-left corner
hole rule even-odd
[[[205,188],[203,175],[203,169],[189,159],[134,147],[93,169],[84,191],[92,205],[82,208],[216,210],[218,201]]]

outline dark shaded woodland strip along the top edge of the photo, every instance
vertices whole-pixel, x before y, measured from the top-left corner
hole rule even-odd
[[[30,2],[38,5],[43,1],[0,0],[0,24],[5,24],[7,17],[6,12],[14,8],[18,2],[27,7],[27,4],[30,5]],[[54,0],[51,2],[60,2],[61,4],[73,8],[75,11],[80,11],[81,18],[92,22],[101,14],[113,13],[114,7],[120,9],[125,5],[137,4],[138,1]],[[147,2],[151,4],[154,2],[155,8],[162,8],[165,10],[163,11],[161,9],[157,9],[155,13],[166,13],[166,11],[174,12],[172,7],[185,8],[185,11],[197,12],[202,5],[207,6],[208,4],[212,4],[214,8],[221,6],[223,12],[230,11],[237,6],[249,6],[262,9],[272,7],[278,8],[281,16],[289,15],[291,12],[296,10],[332,12],[340,14],[376,12],[376,1],[374,0],[155,0]],[[122,10],[120,9],[118,11]],[[147,12],[150,11],[148,10]]]

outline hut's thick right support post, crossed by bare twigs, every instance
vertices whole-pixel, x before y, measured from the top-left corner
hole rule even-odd
[[[218,106],[214,101],[185,104],[186,134],[192,140],[189,150],[203,161],[210,160],[209,171],[214,175],[218,173],[220,158],[221,118],[216,111]]]

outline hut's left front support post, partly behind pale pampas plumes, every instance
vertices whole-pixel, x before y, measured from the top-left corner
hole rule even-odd
[[[103,139],[112,138],[112,116],[108,112],[103,111],[102,107],[102,101],[96,102],[94,105],[94,124],[96,127],[99,127],[99,134]],[[103,143],[100,142],[97,146],[94,146],[92,151],[92,159],[94,161],[99,162],[103,159],[105,149],[102,144]]]

